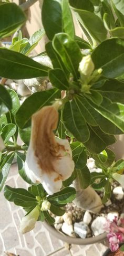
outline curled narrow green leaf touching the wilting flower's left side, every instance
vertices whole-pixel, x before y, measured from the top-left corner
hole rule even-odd
[[[28,178],[25,173],[25,168],[24,168],[25,158],[26,158],[25,154],[16,152],[16,155],[17,155],[18,173],[19,173],[20,177],[22,177],[24,179],[24,181],[27,182],[28,184],[33,184],[31,179]]]

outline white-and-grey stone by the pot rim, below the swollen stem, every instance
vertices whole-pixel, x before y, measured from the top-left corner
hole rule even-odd
[[[85,224],[83,221],[75,222],[74,231],[80,236],[80,238],[85,239],[88,231],[88,225]]]

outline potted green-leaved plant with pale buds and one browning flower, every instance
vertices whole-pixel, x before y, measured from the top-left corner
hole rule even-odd
[[[18,17],[5,23],[1,15],[1,37],[25,22],[15,4],[3,2],[0,11],[3,16],[10,13],[9,17],[18,12]],[[75,35],[71,11],[85,40]],[[111,196],[111,182],[123,186],[124,161],[115,162],[108,148],[115,143],[115,135],[124,132],[122,12],[122,3],[113,0],[44,0],[45,31],[30,39],[19,32],[9,49],[0,48],[1,77],[22,79],[32,91],[20,105],[14,90],[0,86],[0,188],[16,156],[19,175],[29,187],[5,185],[4,195],[27,212],[20,224],[22,233],[32,230],[36,221],[53,224],[49,211],[63,215],[72,201],[98,213]],[[28,54],[44,33],[49,40],[46,52],[33,60]],[[17,144],[18,135],[23,145]],[[87,159],[91,157],[100,173],[90,173]],[[96,189],[104,189],[102,200]],[[54,232],[49,225],[48,229]],[[94,243],[105,236],[71,243]]]

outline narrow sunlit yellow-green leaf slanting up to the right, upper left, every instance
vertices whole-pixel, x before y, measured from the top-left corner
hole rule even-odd
[[[36,31],[28,40],[28,43],[26,46],[22,49],[21,53],[28,55],[38,44],[38,42],[42,39],[42,37],[45,35],[45,30],[40,29]]]

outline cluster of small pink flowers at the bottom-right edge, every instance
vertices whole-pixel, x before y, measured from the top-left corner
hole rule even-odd
[[[115,252],[119,248],[119,244],[124,241],[124,219],[115,216],[112,221],[107,220],[105,230],[108,233],[109,248]]]

